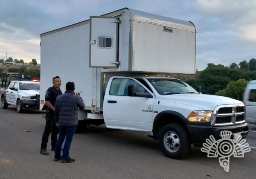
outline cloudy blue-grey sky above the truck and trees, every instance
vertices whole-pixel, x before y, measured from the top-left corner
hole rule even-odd
[[[256,0],[0,0],[0,59],[40,63],[40,34],[124,7],[192,21],[196,65],[256,58]]]

